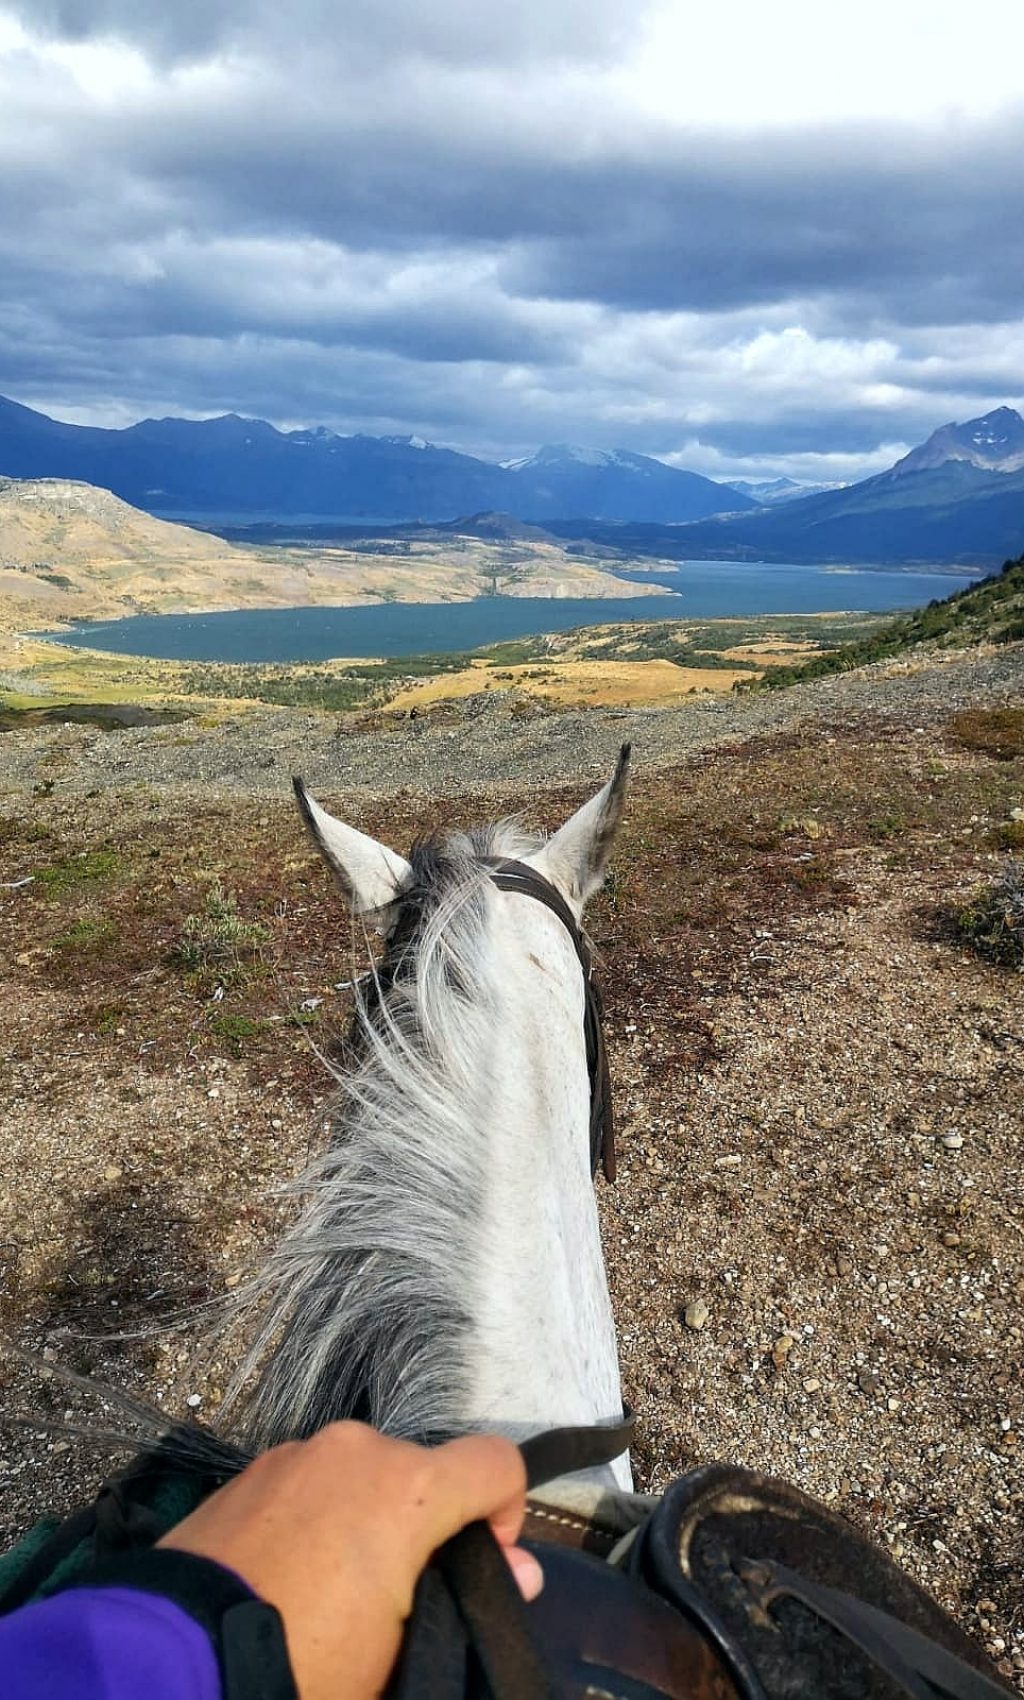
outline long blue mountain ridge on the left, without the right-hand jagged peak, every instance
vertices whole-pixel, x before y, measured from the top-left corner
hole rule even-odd
[[[122,430],[65,425],[0,396],[0,476],[102,484],[172,518],[524,520],[589,515],[679,522],[754,503],[723,484],[624,450],[566,445],[495,466],[422,437],[281,432],[265,420],[141,420]]]

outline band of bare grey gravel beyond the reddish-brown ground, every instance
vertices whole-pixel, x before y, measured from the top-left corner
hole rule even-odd
[[[682,709],[544,714],[493,692],[434,716],[383,714],[366,731],[357,729],[359,719],[284,709],[253,709],[214,728],[111,734],[68,724],[0,734],[0,787],[17,792],[51,782],[82,792],[150,784],[192,796],[279,796],[287,775],[301,772],[313,787],[344,785],[350,796],[395,796],[401,787],[519,796],[524,787],[566,784],[607,768],[629,738],[650,772],[689,751],[808,719],[842,722],[873,714],[912,726],[956,707],[1010,700],[1022,690],[1024,648],[1012,646],[987,654],[951,651],[930,665],[879,663],[784,692],[697,699]]]

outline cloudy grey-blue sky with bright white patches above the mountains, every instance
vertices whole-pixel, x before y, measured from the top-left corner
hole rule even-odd
[[[1024,0],[0,0],[0,393],[866,476],[1024,405]]]

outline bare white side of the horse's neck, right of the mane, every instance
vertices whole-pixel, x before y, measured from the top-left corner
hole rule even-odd
[[[590,1178],[580,966],[565,926],[531,898],[495,894],[492,910],[500,1015],[475,1107],[486,1156],[466,1414],[522,1438],[617,1421],[621,1389]],[[624,1465],[611,1477],[629,1484]]]

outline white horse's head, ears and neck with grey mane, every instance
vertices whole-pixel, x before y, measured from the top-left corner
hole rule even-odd
[[[388,944],[332,1139],[257,1278],[260,1323],[238,1377],[262,1363],[255,1445],[345,1416],[422,1440],[621,1420],[583,969],[565,920],[500,889],[488,858],[526,862],[578,921],[604,879],[628,762],[626,746],[611,782],[546,842],[502,823],[408,860],[296,780],[350,910]],[[628,1491],[628,1459],[594,1470],[592,1488]],[[548,1498],[566,1503],[560,1489]]]

